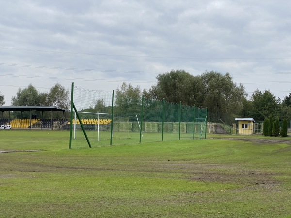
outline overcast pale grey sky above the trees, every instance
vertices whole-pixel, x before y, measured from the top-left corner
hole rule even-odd
[[[0,0],[0,92],[141,90],[172,69],[291,93],[289,0]]]

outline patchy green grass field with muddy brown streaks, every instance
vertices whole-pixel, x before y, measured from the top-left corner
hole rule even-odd
[[[22,151],[0,153],[0,217],[291,217],[291,140],[233,138],[69,150],[68,131],[0,130]]]

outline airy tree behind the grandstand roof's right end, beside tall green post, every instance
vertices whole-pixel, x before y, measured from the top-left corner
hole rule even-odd
[[[70,91],[61,86],[60,83],[55,84],[49,90],[48,104],[60,108],[69,109],[70,106]]]

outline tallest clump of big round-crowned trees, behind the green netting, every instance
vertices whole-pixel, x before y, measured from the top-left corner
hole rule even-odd
[[[218,118],[230,123],[242,110],[242,100],[247,96],[242,84],[225,75],[210,71],[192,76],[184,70],[171,70],[157,76],[157,84],[149,90],[151,97],[183,105],[208,108],[209,119]]]

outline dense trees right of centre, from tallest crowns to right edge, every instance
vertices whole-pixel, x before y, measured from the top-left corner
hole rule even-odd
[[[291,120],[291,93],[282,100],[269,90],[257,89],[248,96],[244,86],[236,84],[229,73],[206,71],[193,76],[184,70],[171,70],[159,74],[157,83],[143,93],[154,99],[207,108],[209,121],[221,119],[232,124],[235,117],[249,117],[263,122],[270,115],[281,121]]]

